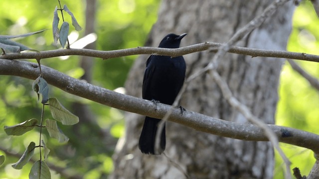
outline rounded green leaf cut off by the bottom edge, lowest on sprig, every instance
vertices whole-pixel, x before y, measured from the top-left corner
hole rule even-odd
[[[29,173],[29,179],[51,179],[51,173],[44,161],[36,161]]]

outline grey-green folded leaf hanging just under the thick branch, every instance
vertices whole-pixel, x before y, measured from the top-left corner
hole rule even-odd
[[[49,98],[49,87],[48,83],[41,77],[38,77],[37,79],[34,80],[32,84],[32,89],[37,92],[38,94],[38,99],[39,99],[39,94],[42,94],[42,104],[45,104],[48,101]]]

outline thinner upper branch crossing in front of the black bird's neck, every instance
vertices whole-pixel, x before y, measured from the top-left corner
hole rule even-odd
[[[97,57],[102,59],[110,59],[116,57],[130,56],[130,55],[140,55],[140,54],[156,54],[156,55],[166,55],[171,57],[186,55],[194,52],[200,52],[205,50],[210,50],[216,52],[218,47],[222,44],[205,42],[200,44],[189,45],[186,47],[181,47],[177,49],[167,49],[167,48],[157,48],[157,47],[137,47],[122,50],[111,50],[111,51],[100,51],[91,49],[60,49],[60,50],[48,50],[42,52],[24,52],[24,53],[9,53],[0,56],[1,59],[44,59],[67,55],[80,55]],[[306,53],[297,52],[287,52],[280,50],[261,50],[246,47],[231,46],[230,53],[249,55],[252,57],[277,57],[277,58],[288,58],[296,60],[305,60],[312,62],[319,62],[318,55],[311,55]]]

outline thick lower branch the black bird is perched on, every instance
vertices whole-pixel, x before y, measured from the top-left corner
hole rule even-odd
[[[103,89],[71,78],[49,67],[41,67],[43,78],[49,84],[101,104],[159,119],[171,109],[170,105],[159,103],[155,106],[149,100]],[[0,75],[13,75],[34,80],[39,76],[38,74],[39,69],[36,63],[0,59]],[[188,110],[181,115],[179,108],[172,111],[169,121],[218,136],[247,141],[268,141],[262,129],[256,125],[230,122]],[[280,142],[305,147],[315,153],[319,152],[319,135],[289,127],[270,124],[268,126]]]

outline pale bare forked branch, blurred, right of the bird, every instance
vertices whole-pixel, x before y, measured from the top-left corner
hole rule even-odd
[[[279,147],[279,142],[276,134],[270,130],[270,128],[260,119],[258,119],[256,116],[254,116],[249,108],[245,106],[244,104],[240,103],[239,100],[237,100],[233,95],[231,90],[229,89],[226,82],[222,80],[222,78],[217,73],[216,69],[218,67],[218,60],[221,59],[229,50],[230,46],[235,44],[238,40],[242,39],[244,36],[246,36],[248,33],[252,32],[255,28],[259,27],[265,19],[269,18],[271,15],[275,13],[275,11],[286,3],[289,0],[275,0],[273,1],[259,16],[256,16],[254,19],[252,19],[248,24],[246,24],[243,28],[238,30],[227,43],[221,45],[218,48],[217,53],[214,55],[211,62],[199,73],[196,73],[195,75],[192,75],[191,78],[195,78],[198,75],[201,75],[202,73],[208,71],[209,75],[215,80],[219,88],[222,90],[223,96],[226,98],[228,103],[235,107],[238,111],[240,111],[245,118],[253,123],[259,126],[264,132],[265,135],[268,137],[274,148],[279,152],[280,156],[283,158],[285,164],[286,164],[286,179],[291,179],[291,173],[290,173],[290,165],[291,162],[286,157],[285,153],[282,151],[282,149]]]

